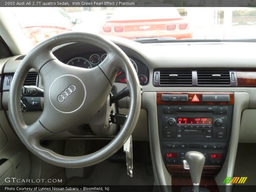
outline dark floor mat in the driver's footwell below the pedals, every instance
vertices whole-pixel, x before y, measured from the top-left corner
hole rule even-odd
[[[133,162],[133,177],[127,175],[126,164],[105,160],[97,164],[89,178],[74,177],[66,185],[153,185],[154,176],[148,175],[146,164]]]

